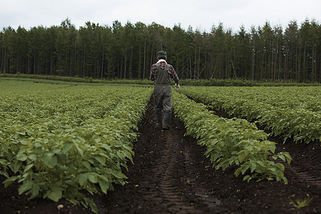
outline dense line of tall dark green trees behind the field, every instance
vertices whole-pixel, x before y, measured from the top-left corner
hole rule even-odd
[[[70,19],[60,26],[10,26],[0,32],[0,73],[92,78],[148,78],[157,52],[168,53],[180,78],[321,82],[321,26],[251,26],[237,32],[223,23],[210,32],[128,21],[79,29]]]

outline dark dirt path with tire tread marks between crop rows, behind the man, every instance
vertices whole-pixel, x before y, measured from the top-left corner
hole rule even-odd
[[[205,213],[220,205],[219,200],[209,197],[212,193],[195,182],[200,165],[205,164],[201,163],[203,149],[196,145],[195,139],[184,136],[183,124],[177,118],[172,118],[170,131],[155,128],[154,121],[151,101],[139,126],[135,164],[128,171],[131,181],[122,188],[128,192],[128,198],[123,195],[118,198],[118,190],[109,194],[108,210],[111,213]],[[127,202],[131,203],[129,210]]]

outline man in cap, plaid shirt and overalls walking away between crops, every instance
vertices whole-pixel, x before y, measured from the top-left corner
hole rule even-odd
[[[167,54],[165,51],[158,51],[158,62],[151,66],[150,79],[154,81],[154,111],[156,113],[156,127],[170,129],[170,118],[172,115],[172,90],[170,88],[170,78],[175,81],[175,88],[180,88],[179,78],[173,66],[166,62]]]

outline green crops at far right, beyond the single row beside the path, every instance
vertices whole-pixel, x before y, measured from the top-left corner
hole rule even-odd
[[[320,87],[184,87],[181,92],[220,111],[258,121],[284,142],[321,140]]]

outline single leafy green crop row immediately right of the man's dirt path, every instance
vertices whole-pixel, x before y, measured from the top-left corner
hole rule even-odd
[[[198,144],[206,146],[215,169],[225,170],[237,165],[235,175],[243,180],[282,180],[284,165],[275,163],[277,158],[290,164],[287,152],[275,153],[274,142],[267,141],[267,134],[253,123],[243,119],[226,119],[215,116],[202,103],[195,103],[181,93],[173,93],[175,115],[185,124],[186,134],[198,138]]]

